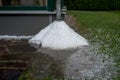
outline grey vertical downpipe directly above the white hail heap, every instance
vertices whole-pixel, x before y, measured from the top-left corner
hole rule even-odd
[[[61,0],[56,0],[56,19],[62,20],[61,16]]]

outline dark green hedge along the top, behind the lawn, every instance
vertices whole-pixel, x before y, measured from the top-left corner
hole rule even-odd
[[[68,10],[120,10],[120,0],[64,0]]]

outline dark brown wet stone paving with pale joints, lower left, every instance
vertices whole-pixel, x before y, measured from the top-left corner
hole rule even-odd
[[[28,68],[36,49],[27,40],[0,40],[0,80],[15,80]]]

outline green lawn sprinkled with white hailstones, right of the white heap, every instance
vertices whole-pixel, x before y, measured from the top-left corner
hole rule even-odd
[[[113,58],[120,74],[120,12],[119,11],[68,11],[76,17],[80,33],[93,45],[95,54]],[[97,49],[96,49],[97,45]],[[120,80],[120,76],[114,80]]]

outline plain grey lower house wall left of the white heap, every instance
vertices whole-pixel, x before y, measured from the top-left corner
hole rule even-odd
[[[34,35],[54,21],[55,16],[55,14],[0,14],[0,35]]]

